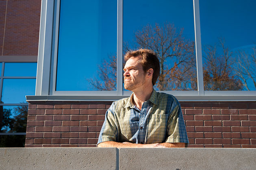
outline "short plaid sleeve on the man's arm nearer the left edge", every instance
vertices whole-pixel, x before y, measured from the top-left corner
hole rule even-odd
[[[117,126],[115,123],[115,116],[113,113],[114,103],[106,111],[105,120],[102,125],[98,143],[106,141],[116,141],[117,138]]]

